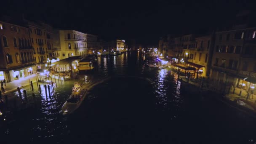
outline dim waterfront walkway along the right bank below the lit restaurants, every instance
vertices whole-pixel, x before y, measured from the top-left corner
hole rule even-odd
[[[256,95],[250,95],[247,98],[247,92],[229,86],[224,86],[221,84],[214,84],[211,80],[189,79],[187,83],[187,77],[179,76],[179,81],[182,79],[182,87],[189,92],[200,92],[208,96],[213,96],[216,99],[223,101],[226,104],[232,105],[243,112],[253,112],[256,113]],[[189,86],[191,85],[191,86]],[[241,92],[240,92],[241,91]]]

